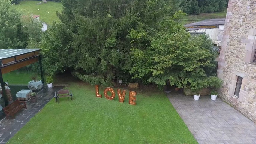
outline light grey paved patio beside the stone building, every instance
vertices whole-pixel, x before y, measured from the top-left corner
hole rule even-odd
[[[256,125],[217,98],[167,95],[199,144],[255,144]]]

